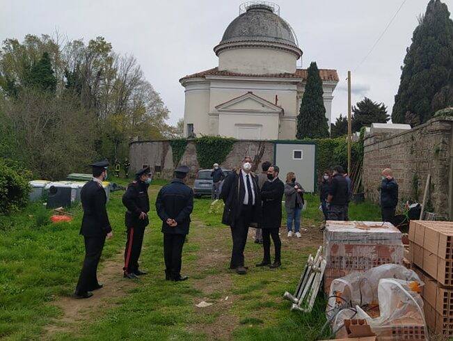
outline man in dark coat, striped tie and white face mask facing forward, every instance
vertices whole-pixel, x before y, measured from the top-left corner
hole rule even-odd
[[[235,269],[240,275],[247,273],[244,248],[248,227],[252,223],[257,224],[261,215],[260,189],[257,177],[251,172],[251,161],[251,157],[244,157],[241,169],[228,175],[221,192],[225,203],[222,223],[230,225],[233,239],[230,269]]]

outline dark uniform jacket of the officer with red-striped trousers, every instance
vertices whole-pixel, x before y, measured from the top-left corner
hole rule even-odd
[[[141,212],[150,212],[150,198],[148,196],[149,185],[141,180],[135,180],[127,185],[122,195],[122,204],[127,208],[125,223],[128,228],[146,226],[150,223],[148,216],[138,219]]]

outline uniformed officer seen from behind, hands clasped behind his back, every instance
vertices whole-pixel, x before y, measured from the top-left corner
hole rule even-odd
[[[185,184],[189,167],[175,169],[175,178],[162,187],[157,195],[156,209],[162,220],[164,233],[165,279],[186,280],[181,276],[182,246],[189,234],[190,214],[193,209],[193,191]]]

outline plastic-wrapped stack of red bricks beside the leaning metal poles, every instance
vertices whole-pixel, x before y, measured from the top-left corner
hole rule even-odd
[[[366,271],[382,264],[402,264],[402,233],[391,223],[327,221],[324,230],[324,291],[332,280],[352,271]]]

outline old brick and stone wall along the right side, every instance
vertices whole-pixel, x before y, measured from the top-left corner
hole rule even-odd
[[[427,175],[431,174],[429,204],[438,216],[449,214],[450,150],[452,118],[434,118],[424,125],[396,135],[375,134],[365,139],[363,184],[365,197],[379,202],[383,168],[392,168],[399,184],[399,200],[423,200]]]

